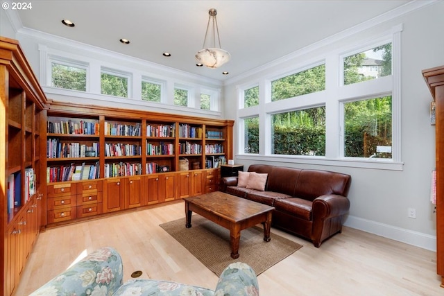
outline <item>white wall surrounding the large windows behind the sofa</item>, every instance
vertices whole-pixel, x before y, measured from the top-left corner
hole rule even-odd
[[[434,205],[429,202],[431,171],[435,162],[435,128],[429,121],[429,104],[432,96],[422,78],[422,69],[444,64],[444,1],[438,1],[402,17],[385,21],[368,28],[360,36],[373,35],[398,24],[403,25],[402,40],[402,171],[316,166],[309,164],[279,163],[264,160],[237,159],[244,164],[274,164],[297,168],[316,168],[348,173],[352,176],[349,198],[350,214],[345,225],[372,232],[412,245],[436,250],[436,221]],[[349,42],[352,39],[350,37]],[[259,80],[267,73],[298,64],[316,57],[320,52],[342,46],[341,41],[323,46],[269,69],[252,71],[250,76],[229,81],[225,85],[225,114],[236,119],[232,110],[237,105],[237,85]],[[234,127],[236,134],[237,128]],[[234,147],[237,147],[236,137]],[[409,207],[416,209],[416,219],[407,217]]]

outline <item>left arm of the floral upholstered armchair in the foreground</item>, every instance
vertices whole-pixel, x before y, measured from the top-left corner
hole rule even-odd
[[[122,283],[121,256],[112,247],[102,247],[48,281],[30,296],[112,295]]]

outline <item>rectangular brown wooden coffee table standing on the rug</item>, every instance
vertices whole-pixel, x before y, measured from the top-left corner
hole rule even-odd
[[[191,227],[191,214],[195,212],[208,220],[230,230],[231,256],[239,257],[241,230],[259,223],[264,225],[264,241],[270,241],[271,212],[274,207],[237,196],[215,191],[184,198],[185,227]]]

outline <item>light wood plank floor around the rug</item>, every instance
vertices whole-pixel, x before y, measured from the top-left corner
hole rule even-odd
[[[107,245],[122,256],[124,281],[142,270],[140,278],[214,289],[218,277],[158,226],[182,217],[184,204],[178,202],[47,229],[37,239],[15,295],[28,295],[86,252]],[[444,295],[435,252],[347,227],[319,249],[271,231],[303,247],[259,275],[261,295]],[[241,251],[242,246],[242,256]]]

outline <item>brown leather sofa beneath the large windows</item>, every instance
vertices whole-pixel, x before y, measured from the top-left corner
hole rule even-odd
[[[220,190],[275,207],[271,225],[309,239],[316,247],[341,232],[350,209],[350,175],[321,170],[253,164],[248,172],[267,173],[265,191],[237,186],[223,177]]]

